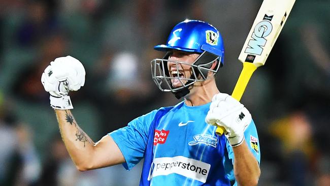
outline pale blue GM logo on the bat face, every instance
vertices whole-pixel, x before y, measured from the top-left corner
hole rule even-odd
[[[260,21],[258,24],[254,27],[254,32],[252,33],[251,40],[248,43],[248,47],[245,49],[246,53],[261,55],[262,48],[261,46],[265,46],[267,43],[267,40],[265,37],[271,34],[273,25],[271,23],[271,20],[273,19],[272,16],[268,16],[265,14],[262,21]]]

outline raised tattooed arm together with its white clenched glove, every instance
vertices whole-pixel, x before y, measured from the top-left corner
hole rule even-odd
[[[59,57],[42,74],[41,82],[50,94],[50,105],[55,109],[65,147],[80,171],[111,166],[125,162],[117,144],[110,136],[94,143],[78,126],[69,90],[79,90],[85,83],[85,69],[78,59]],[[91,123],[92,125],[92,123]]]

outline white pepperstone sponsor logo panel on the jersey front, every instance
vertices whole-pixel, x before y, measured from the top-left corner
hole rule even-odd
[[[183,156],[155,158],[150,167],[148,180],[176,173],[205,183],[210,168],[210,164]]]

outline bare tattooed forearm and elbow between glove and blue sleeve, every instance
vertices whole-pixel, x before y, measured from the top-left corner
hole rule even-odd
[[[55,110],[62,140],[80,171],[124,163],[125,159],[113,139],[106,135],[94,143],[78,126],[70,110]]]

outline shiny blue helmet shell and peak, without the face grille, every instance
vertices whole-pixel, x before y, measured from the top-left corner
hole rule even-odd
[[[172,29],[167,44],[157,45],[154,49],[169,51],[170,49],[186,52],[210,52],[220,57],[223,65],[223,40],[219,31],[211,24],[200,20],[185,20]]]

